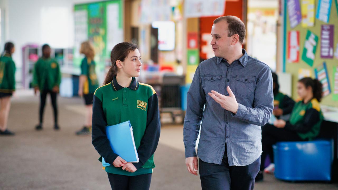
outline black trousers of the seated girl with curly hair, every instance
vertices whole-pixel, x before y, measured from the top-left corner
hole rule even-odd
[[[273,149],[272,145],[281,141],[304,141],[296,132],[285,129],[277,128],[273,125],[266,124],[262,126],[262,160],[261,171],[264,170],[264,163],[266,157],[269,155],[271,163],[273,163]]]

